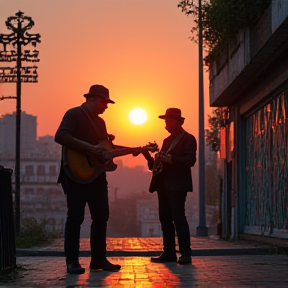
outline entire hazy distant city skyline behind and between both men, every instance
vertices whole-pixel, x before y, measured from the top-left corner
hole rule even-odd
[[[15,113],[0,118],[0,165],[11,169],[15,167],[15,120]],[[21,114],[20,156],[21,217],[33,216],[38,222],[44,220],[47,229],[62,233],[66,199],[61,186],[57,184],[61,146],[50,135],[37,139],[37,117],[25,112]],[[144,167],[123,166],[119,158],[114,162],[118,165],[117,170],[107,173],[110,198],[109,236],[161,236],[157,196],[147,191],[151,173]],[[190,197],[187,216],[193,234],[197,202],[191,201]],[[90,222],[87,210],[82,225],[82,237],[89,236]]]

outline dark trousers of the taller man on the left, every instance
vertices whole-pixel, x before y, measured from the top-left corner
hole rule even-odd
[[[79,257],[80,228],[84,221],[85,206],[91,214],[90,248],[92,259],[106,255],[106,230],[109,218],[108,189],[105,174],[89,184],[79,184],[63,175],[62,187],[67,196],[64,250],[66,262]]]

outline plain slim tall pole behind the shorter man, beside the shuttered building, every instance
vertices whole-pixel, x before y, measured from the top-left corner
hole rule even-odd
[[[199,226],[197,236],[208,236],[206,226],[205,201],[205,138],[204,138],[204,85],[203,85],[203,39],[202,39],[202,3],[199,0]]]

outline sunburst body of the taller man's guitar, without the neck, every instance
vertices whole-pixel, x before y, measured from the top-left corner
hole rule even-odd
[[[99,153],[113,150],[112,143],[108,140],[100,142],[97,146],[99,147]],[[93,159],[93,164],[90,165],[87,156],[83,153],[67,148],[65,150],[65,158],[67,159],[67,165],[64,165],[65,171],[77,183],[91,183],[102,172],[114,171],[117,168],[112,158],[107,159],[104,163]]]

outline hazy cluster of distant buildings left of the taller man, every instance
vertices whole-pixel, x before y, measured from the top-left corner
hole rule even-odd
[[[0,118],[0,165],[15,168],[16,114]],[[37,139],[37,117],[21,113],[20,209],[22,217],[45,219],[48,229],[63,230],[66,202],[57,184],[61,147],[52,136]],[[14,183],[14,177],[12,177]]]

